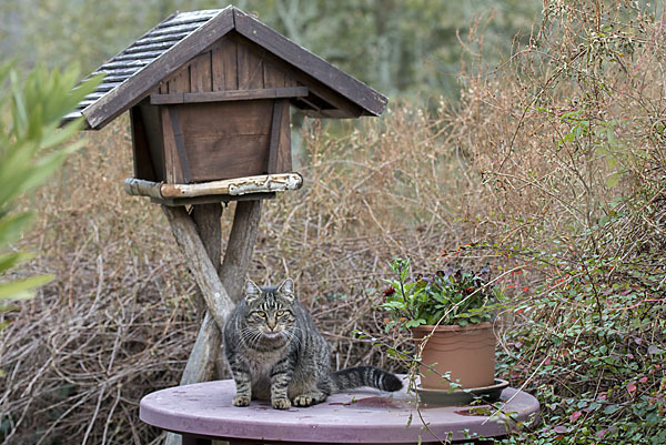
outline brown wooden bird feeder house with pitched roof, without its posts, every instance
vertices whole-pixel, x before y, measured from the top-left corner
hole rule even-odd
[[[134,178],[125,190],[169,205],[297,189],[292,107],[314,118],[359,118],[386,105],[234,7],[175,13],[97,73],[103,82],[67,119],[82,115],[99,130],[129,110]]]

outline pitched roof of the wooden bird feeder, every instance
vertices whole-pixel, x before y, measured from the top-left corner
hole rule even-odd
[[[220,10],[174,13],[160,22],[91,74],[104,73],[105,77],[97,90],[85,97],[78,109],[65,119],[83,115],[90,129],[103,128],[148,97],[155,85],[180,67],[231,32],[242,36],[291,68],[300,70],[304,74],[302,83],[310,87],[313,94],[316,95],[317,88],[330,89],[350,103],[350,107],[332,112],[313,110],[306,107],[306,102],[293,102],[295,107],[307,109],[310,115],[379,115],[386,107],[387,99],[384,95],[230,6]],[[312,88],[313,84],[315,88]],[[317,97],[314,99],[323,100]]]

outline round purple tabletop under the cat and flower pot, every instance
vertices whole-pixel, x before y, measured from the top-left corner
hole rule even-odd
[[[253,401],[249,407],[235,407],[233,381],[216,381],[175,386],[154,392],[141,400],[143,422],[183,435],[183,445],[210,444],[211,439],[233,444],[407,444],[452,441],[471,442],[474,437],[496,437],[507,433],[503,415],[493,418],[473,415],[465,406],[421,405],[423,426],[413,398],[402,392],[355,390],[335,394],[307,408],[273,409],[268,402]],[[514,421],[538,415],[538,402],[527,393],[506,388],[504,411],[515,413]],[[407,423],[412,417],[410,426]],[[465,431],[468,433],[465,434]]]

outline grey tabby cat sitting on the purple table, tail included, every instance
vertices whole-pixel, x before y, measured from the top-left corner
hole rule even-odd
[[[245,299],[224,326],[224,348],[236,386],[235,406],[270,400],[276,409],[310,406],[360,386],[398,391],[395,375],[374,366],[330,373],[331,348],[294,297],[294,283],[278,287],[245,282]]]

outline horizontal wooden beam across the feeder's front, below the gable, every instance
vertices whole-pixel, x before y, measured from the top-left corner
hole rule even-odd
[[[164,105],[175,103],[224,102],[254,99],[303,98],[307,94],[307,87],[206,91],[196,93],[151,94],[150,103],[152,105]]]

